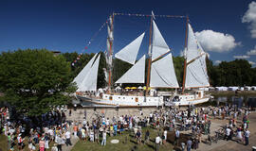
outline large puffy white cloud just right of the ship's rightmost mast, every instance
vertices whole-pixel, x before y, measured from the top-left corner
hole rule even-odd
[[[232,35],[216,32],[212,30],[203,30],[195,33],[197,40],[207,51],[228,52],[240,45],[241,42],[235,42]]]

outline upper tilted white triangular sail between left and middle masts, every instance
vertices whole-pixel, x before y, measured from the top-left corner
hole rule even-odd
[[[121,59],[123,61],[126,61],[131,64],[135,64],[137,59],[137,52],[140,47],[140,44],[144,38],[145,32],[142,33],[140,36],[137,37],[136,40],[126,45],[124,48],[122,48],[115,57],[117,59]]]

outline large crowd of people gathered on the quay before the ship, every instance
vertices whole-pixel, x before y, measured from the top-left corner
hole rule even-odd
[[[49,148],[49,143],[53,143],[52,151],[62,151],[63,145],[72,145],[71,137],[80,139],[82,142],[95,142],[99,145],[106,145],[108,137],[124,135],[127,143],[129,135],[134,136],[138,144],[149,143],[150,139],[155,140],[155,150],[159,149],[161,144],[167,141],[174,143],[174,147],[181,147],[187,150],[197,149],[199,143],[202,143],[202,135],[214,135],[210,131],[210,119],[220,118],[229,119],[229,124],[223,127],[225,129],[225,140],[234,140],[236,136],[237,142],[248,144],[249,138],[249,121],[247,109],[237,109],[232,106],[224,107],[207,107],[187,109],[166,108],[155,109],[148,115],[140,111],[140,115],[120,115],[106,117],[104,113],[97,114],[95,118],[86,118],[86,111],[82,121],[66,121],[64,110],[54,109],[36,119],[26,117],[16,120],[9,119],[9,109],[0,109],[1,121],[0,127],[2,133],[8,137],[8,149],[14,150],[14,145],[19,150],[23,150],[25,146],[25,138],[27,138],[27,146],[29,151],[39,148],[45,151]],[[69,110],[69,116],[72,111]],[[242,124],[238,124],[237,118],[242,116]],[[35,124],[33,121],[37,121]],[[39,125],[40,124],[40,125]],[[149,128],[142,137],[143,127],[157,129],[155,138],[152,138]],[[123,131],[129,131],[123,134]],[[173,133],[172,133],[173,132]],[[168,136],[168,133],[174,135]],[[183,135],[188,134],[188,135]],[[210,139],[209,139],[210,140]]]

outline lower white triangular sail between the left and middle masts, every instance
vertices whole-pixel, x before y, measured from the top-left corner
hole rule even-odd
[[[145,55],[130,68],[116,83],[144,83],[145,78]]]

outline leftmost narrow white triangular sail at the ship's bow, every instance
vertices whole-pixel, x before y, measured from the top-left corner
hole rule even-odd
[[[92,64],[93,64],[93,62],[94,62],[94,60],[95,60],[97,55],[98,55],[98,53],[95,54],[92,59],[90,59],[90,61],[85,65],[85,67],[79,73],[79,75],[74,78],[73,82],[76,82],[78,87],[82,84],[82,80],[89,73],[89,71],[90,71],[90,69],[92,67]]]

